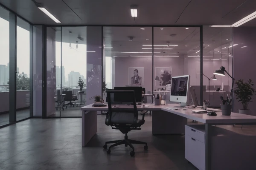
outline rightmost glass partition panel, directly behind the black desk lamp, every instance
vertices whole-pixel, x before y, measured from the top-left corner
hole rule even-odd
[[[232,28],[210,28],[203,26],[203,96],[204,99],[209,100],[209,107],[220,108],[222,104],[220,95],[230,95],[232,86],[232,79],[226,76],[219,76],[213,74],[215,70],[219,70],[224,66],[226,71],[232,75]],[[215,80],[213,78],[217,80]],[[212,79],[213,78],[213,79]]]

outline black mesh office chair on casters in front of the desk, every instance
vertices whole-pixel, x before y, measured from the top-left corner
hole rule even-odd
[[[137,105],[135,100],[135,92],[134,91],[117,91],[117,90],[108,90],[107,92],[107,101],[108,101],[108,113],[106,115],[105,124],[107,126],[111,126],[112,129],[120,130],[122,133],[125,134],[124,140],[115,140],[115,141],[108,141],[105,142],[105,145],[103,146],[104,149],[107,149],[107,144],[112,144],[108,147],[107,153],[111,153],[111,148],[125,144],[125,147],[128,145],[132,148],[132,151],[130,152],[131,156],[134,156],[134,147],[132,144],[145,144],[144,150],[148,150],[148,144],[146,142],[140,142],[136,140],[128,139],[127,133],[131,130],[141,130],[141,125],[144,124],[144,116],[143,119],[138,119],[138,111],[137,111]],[[129,102],[131,101],[133,105],[113,105],[113,101],[111,98],[111,95],[114,95],[114,93],[121,93]]]

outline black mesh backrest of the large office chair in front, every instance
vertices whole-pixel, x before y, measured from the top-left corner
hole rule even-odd
[[[137,123],[138,111],[135,99],[135,92],[118,90],[108,90],[106,92],[108,98],[108,121],[106,122],[106,124],[133,125]],[[128,101],[131,100],[131,103],[133,105],[113,105],[113,100],[111,100],[111,96],[113,96],[115,93],[118,93],[118,95],[123,95],[128,99]]]

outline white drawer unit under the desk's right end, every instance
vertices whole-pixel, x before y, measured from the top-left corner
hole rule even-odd
[[[185,125],[185,159],[199,170],[205,170],[204,125]]]

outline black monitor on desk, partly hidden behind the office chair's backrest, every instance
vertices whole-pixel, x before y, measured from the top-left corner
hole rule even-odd
[[[127,87],[114,87],[114,90],[133,90],[135,92],[136,103],[142,101],[142,87],[127,86]],[[122,94],[114,94],[114,102],[131,103],[130,99],[127,99]]]

